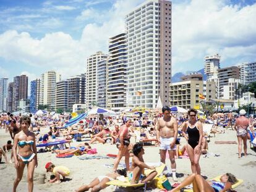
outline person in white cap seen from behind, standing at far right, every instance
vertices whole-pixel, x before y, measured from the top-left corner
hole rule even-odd
[[[236,119],[236,123],[234,124],[234,129],[236,130],[236,136],[238,140],[238,158],[241,158],[242,153],[242,142],[244,143],[244,156],[247,156],[247,127],[250,127],[252,134],[254,135],[254,131],[252,129],[252,124],[250,120],[245,117],[246,111],[241,109],[239,111],[240,117]],[[254,135],[255,137],[255,135]]]

